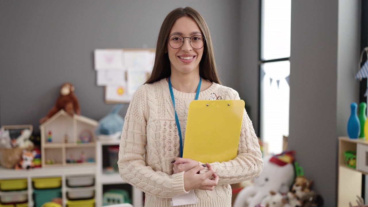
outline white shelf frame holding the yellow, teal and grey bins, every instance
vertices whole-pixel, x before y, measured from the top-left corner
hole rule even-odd
[[[67,187],[66,179],[67,176],[86,176],[86,175],[96,175],[95,165],[85,165],[85,166],[63,166],[63,167],[49,167],[49,168],[33,168],[33,169],[5,169],[0,168],[0,180],[7,179],[27,179],[27,192],[28,192],[28,206],[33,207],[33,185],[32,178],[47,178],[47,177],[61,177],[61,197],[63,199],[63,207],[66,207],[67,196],[66,193],[72,189]],[[95,176],[96,178],[96,176]],[[94,186],[86,187],[86,189],[96,189],[96,182]],[[79,190],[82,190],[80,188]],[[96,191],[96,190],[95,190]]]

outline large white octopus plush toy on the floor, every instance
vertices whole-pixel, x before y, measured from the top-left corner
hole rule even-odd
[[[294,180],[292,163],[283,166],[271,162],[269,155],[263,158],[263,171],[254,179],[254,185],[244,187],[238,193],[233,207],[254,207],[268,196],[270,191],[287,193]]]

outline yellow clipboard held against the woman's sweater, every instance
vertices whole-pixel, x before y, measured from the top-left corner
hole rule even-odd
[[[238,152],[243,100],[190,102],[183,158],[202,163],[234,159]]]

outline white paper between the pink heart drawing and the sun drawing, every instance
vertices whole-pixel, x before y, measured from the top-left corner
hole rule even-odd
[[[125,70],[117,69],[105,69],[97,71],[97,85],[119,85],[124,84],[125,80]]]

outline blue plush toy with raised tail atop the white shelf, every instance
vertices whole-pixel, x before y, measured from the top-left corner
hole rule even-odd
[[[116,104],[105,117],[99,120],[95,134],[111,135],[123,130],[124,119],[118,113],[123,108],[123,104]]]

